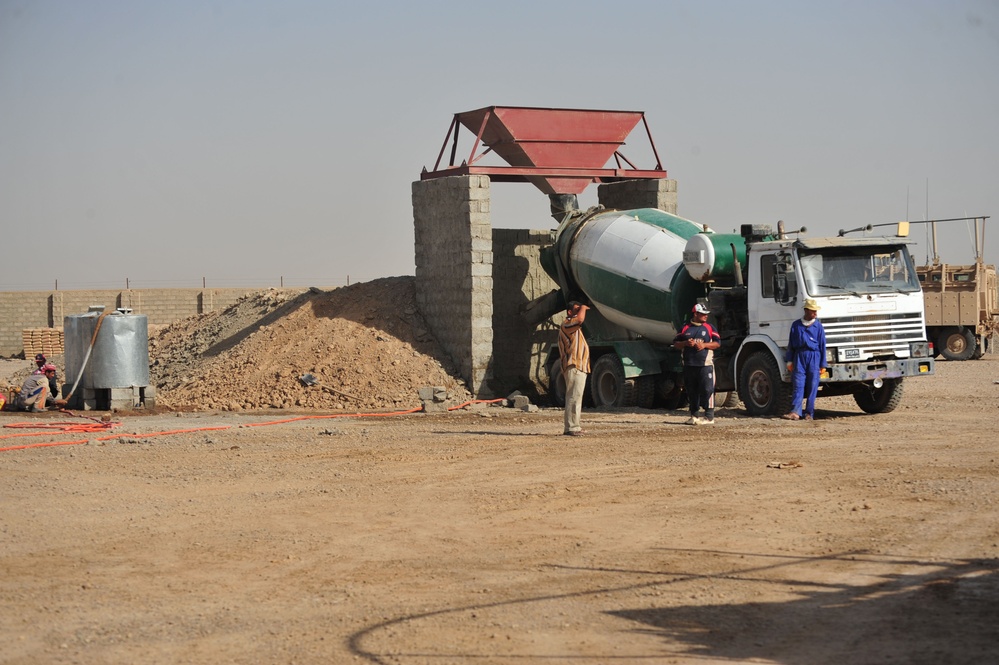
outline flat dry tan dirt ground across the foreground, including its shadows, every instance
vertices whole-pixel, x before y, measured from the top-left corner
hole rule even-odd
[[[999,662],[997,381],[580,438],[551,409],[116,414],[0,454],[0,662]]]

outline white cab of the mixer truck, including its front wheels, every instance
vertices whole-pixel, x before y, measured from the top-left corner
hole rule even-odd
[[[753,415],[790,410],[784,363],[791,323],[815,299],[828,371],[819,395],[852,394],[868,413],[893,410],[902,379],[932,374],[919,280],[904,241],[765,239],[746,244],[746,336],[733,345],[731,380]]]

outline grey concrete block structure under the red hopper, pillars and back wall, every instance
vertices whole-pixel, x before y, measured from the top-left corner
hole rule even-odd
[[[552,230],[492,229],[489,178],[413,183],[416,298],[427,325],[480,397],[544,393],[560,316],[531,326],[521,307],[556,288],[541,268]],[[676,214],[675,180],[600,185],[608,208]]]

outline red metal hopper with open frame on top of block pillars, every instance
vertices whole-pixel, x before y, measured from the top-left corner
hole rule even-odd
[[[639,121],[645,126],[656,159],[654,169],[635,168],[618,150]],[[461,126],[475,133],[476,140],[468,159],[455,166]],[[442,169],[441,159],[452,136],[451,159]],[[486,149],[477,154],[480,145]],[[490,152],[510,166],[476,164]],[[605,168],[612,157],[616,168]],[[470,174],[488,175],[497,182],[531,182],[546,194],[579,194],[591,182],[666,177],[641,111],[519,106],[489,106],[456,113],[434,170],[424,168],[420,179]]]

